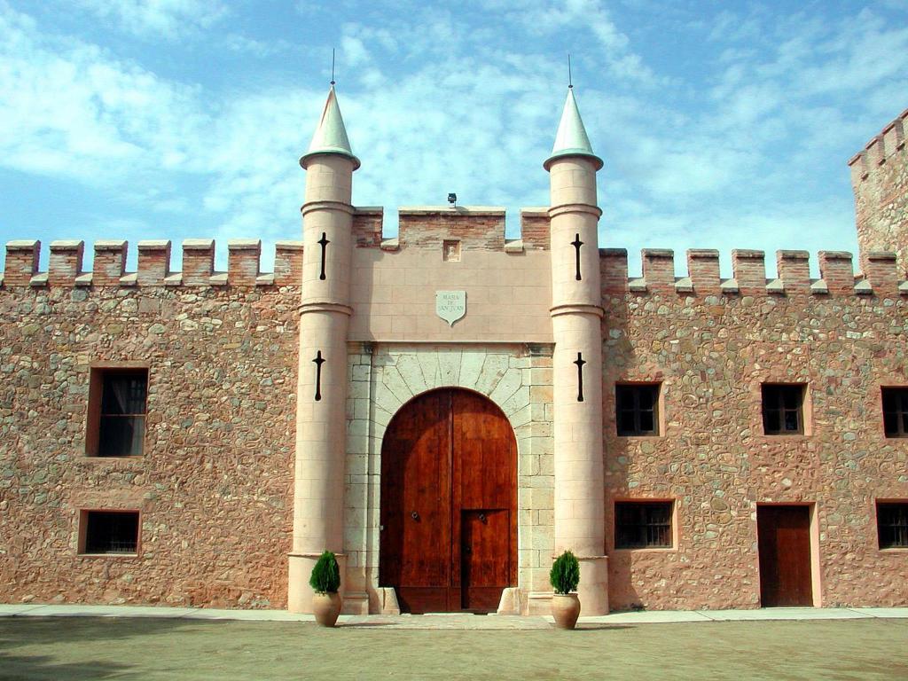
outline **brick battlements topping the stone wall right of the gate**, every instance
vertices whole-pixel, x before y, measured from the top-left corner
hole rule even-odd
[[[721,278],[719,252],[687,251],[687,276],[676,275],[675,252],[643,249],[643,276],[627,274],[627,250],[599,249],[603,295],[631,293],[683,295],[875,295],[908,296],[908,281],[902,281],[893,252],[872,252],[863,275],[855,274],[849,252],[819,252],[820,278],[810,277],[810,254],[777,251],[778,277],[766,278],[765,252],[732,251],[732,276]]]

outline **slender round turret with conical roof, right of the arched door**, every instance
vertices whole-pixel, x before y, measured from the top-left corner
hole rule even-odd
[[[602,461],[602,300],[596,173],[573,87],[543,167],[551,183],[555,552],[580,561],[584,615],[608,612]]]

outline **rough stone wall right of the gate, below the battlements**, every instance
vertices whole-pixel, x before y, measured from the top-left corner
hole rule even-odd
[[[908,498],[908,440],[883,437],[880,397],[881,386],[908,384],[906,298],[626,292],[604,302],[613,609],[759,607],[764,502],[815,505],[822,605],[908,605],[908,552],[877,548],[874,515],[874,499]],[[617,437],[617,381],[662,383],[660,436]],[[804,436],[763,434],[764,381],[808,384]],[[676,546],[615,550],[614,502],[643,498],[674,499]]]

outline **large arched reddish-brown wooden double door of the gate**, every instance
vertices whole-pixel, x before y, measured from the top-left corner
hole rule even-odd
[[[381,445],[379,583],[404,612],[490,612],[517,582],[517,443],[488,398],[410,400]]]

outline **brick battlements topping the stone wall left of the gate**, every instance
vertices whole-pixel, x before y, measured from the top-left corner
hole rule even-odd
[[[302,242],[277,242],[274,271],[260,271],[262,242],[227,242],[227,271],[214,270],[214,241],[183,241],[183,271],[171,271],[171,242],[138,242],[138,267],[126,271],[125,241],[94,242],[94,269],[84,271],[85,244],[50,244],[47,271],[38,271],[41,242],[6,244],[5,271],[0,285],[13,286],[289,286],[302,281]]]

